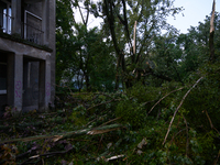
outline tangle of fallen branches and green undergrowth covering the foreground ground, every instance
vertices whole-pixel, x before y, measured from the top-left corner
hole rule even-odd
[[[208,85],[206,75],[178,109],[164,144],[174,112],[195,81],[157,88],[138,84],[114,94],[59,92],[58,111],[1,120],[1,158],[18,164],[218,164],[219,87]]]

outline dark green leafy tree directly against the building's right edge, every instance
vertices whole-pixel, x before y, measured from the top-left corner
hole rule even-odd
[[[72,54],[75,52],[73,25],[74,12],[69,0],[56,1],[56,84],[59,85],[65,72],[74,62]]]

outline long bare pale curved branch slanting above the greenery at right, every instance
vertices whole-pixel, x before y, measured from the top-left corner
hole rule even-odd
[[[191,89],[194,89],[194,88],[196,87],[196,85],[197,85],[202,78],[204,78],[204,77],[200,77],[200,78],[196,81],[196,84],[186,92],[186,95],[184,96],[184,98],[182,99],[182,101],[180,101],[179,106],[177,107],[176,111],[174,112],[174,116],[173,116],[173,118],[172,118],[172,121],[170,121],[170,123],[169,123],[169,125],[168,125],[168,130],[167,130],[167,133],[166,133],[166,135],[165,135],[163,145],[164,145],[165,142],[166,142],[166,139],[167,139],[167,136],[168,136],[168,133],[169,133],[169,131],[170,131],[172,123],[174,122],[174,118],[176,117],[177,111],[179,110],[179,108],[180,108],[182,105],[184,103],[184,100],[185,100],[186,97],[189,95],[189,92],[191,91]]]

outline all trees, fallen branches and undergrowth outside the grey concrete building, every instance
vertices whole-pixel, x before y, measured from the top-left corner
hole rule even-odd
[[[172,2],[57,0],[56,108],[7,108],[0,163],[219,165],[219,13],[179,34]]]

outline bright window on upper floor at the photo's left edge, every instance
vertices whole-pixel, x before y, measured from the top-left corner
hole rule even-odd
[[[12,13],[11,3],[6,0],[0,1],[0,31],[11,34]]]

